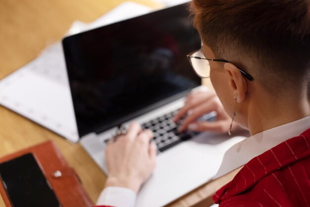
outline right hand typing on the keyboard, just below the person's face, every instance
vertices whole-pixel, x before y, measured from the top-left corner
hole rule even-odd
[[[197,121],[198,118],[204,114],[215,111],[216,120],[212,122]],[[188,95],[184,107],[180,109],[178,114],[174,117],[174,121],[178,122],[183,116],[187,115],[179,131],[212,131],[218,133],[226,133],[231,124],[231,118],[225,112],[220,100],[215,91],[207,88],[204,91],[192,92]],[[238,125],[233,124],[233,129]]]

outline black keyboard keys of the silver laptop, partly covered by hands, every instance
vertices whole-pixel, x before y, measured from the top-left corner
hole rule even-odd
[[[142,124],[143,129],[149,129],[153,131],[154,141],[157,145],[158,151],[160,152],[200,134],[191,131],[185,131],[182,133],[178,132],[178,128],[183,123],[185,117],[183,117],[178,123],[174,123],[172,118],[177,114],[177,112],[178,110],[172,111]],[[214,116],[207,114],[199,120],[210,121],[212,118],[214,118]]]

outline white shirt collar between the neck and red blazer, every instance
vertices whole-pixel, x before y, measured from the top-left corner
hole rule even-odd
[[[302,134],[309,128],[310,116],[263,131],[236,143],[225,152],[214,179],[245,165],[259,154]]]

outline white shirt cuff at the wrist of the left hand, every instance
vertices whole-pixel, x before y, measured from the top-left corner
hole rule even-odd
[[[111,207],[134,207],[136,197],[136,193],[128,188],[106,187],[101,192],[97,200],[97,205]]]

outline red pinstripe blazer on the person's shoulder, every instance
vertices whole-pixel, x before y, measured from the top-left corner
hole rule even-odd
[[[250,160],[213,200],[220,207],[310,207],[310,129]]]

